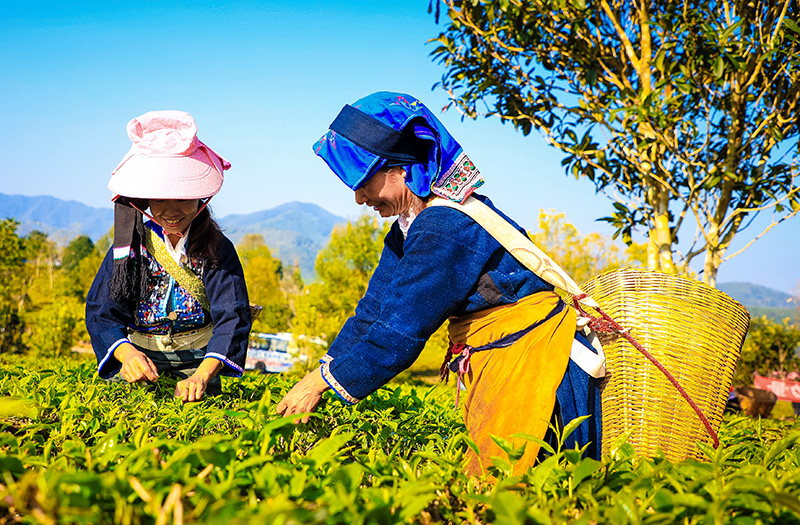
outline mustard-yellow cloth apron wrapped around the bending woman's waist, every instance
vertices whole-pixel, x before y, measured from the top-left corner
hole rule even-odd
[[[558,301],[554,292],[540,292],[514,304],[452,318],[450,340],[473,347],[489,344],[544,319]],[[526,444],[514,474],[535,463],[539,445],[510,436],[525,433],[544,438],[556,389],[567,369],[575,321],[575,310],[566,307],[513,345],[472,354],[464,377],[464,422],[480,456],[471,454],[469,474],[486,472],[492,456],[506,458],[491,435],[509,439],[515,447]]]

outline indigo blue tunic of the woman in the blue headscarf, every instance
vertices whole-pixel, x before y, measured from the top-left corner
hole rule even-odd
[[[473,196],[524,233],[488,198]],[[355,315],[322,358],[322,375],[343,400],[356,403],[408,368],[448,317],[552,289],[466,214],[444,206],[426,208],[405,239],[398,223],[392,225]],[[576,337],[591,348],[582,335]],[[597,387],[597,380],[570,360],[554,414],[564,422],[596,416],[567,441],[568,447],[591,442],[592,457],[600,435]]]

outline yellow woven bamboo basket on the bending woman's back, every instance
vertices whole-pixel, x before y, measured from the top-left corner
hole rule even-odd
[[[641,269],[604,273],[583,286],[609,316],[672,373],[719,430],[750,315],[715,288]],[[603,453],[628,435],[640,454],[704,460],[713,445],[698,415],[667,377],[625,338],[603,341]]]

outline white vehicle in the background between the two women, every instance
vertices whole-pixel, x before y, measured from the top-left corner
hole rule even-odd
[[[327,346],[319,338],[308,338],[304,335],[298,338],[310,341],[315,345]],[[297,347],[295,336],[290,332],[266,334],[253,332],[250,334],[250,343],[247,345],[245,370],[258,370],[261,373],[288,372],[297,362],[305,362],[308,356],[301,354]]]

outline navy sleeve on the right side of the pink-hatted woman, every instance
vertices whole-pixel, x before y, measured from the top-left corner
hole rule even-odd
[[[206,357],[218,359],[225,365],[221,375],[241,377],[252,319],[242,264],[227,238],[220,242],[217,264],[203,272],[203,282],[214,323]]]

